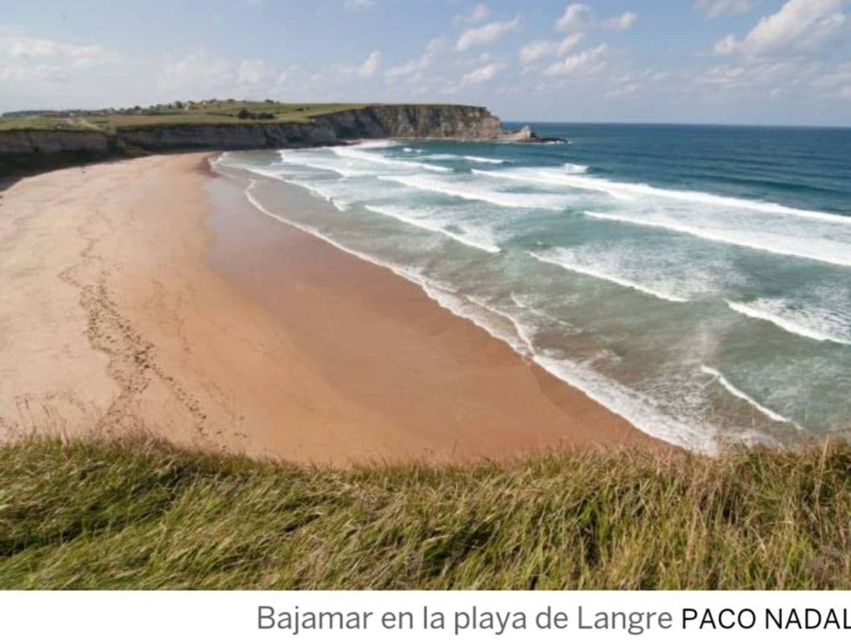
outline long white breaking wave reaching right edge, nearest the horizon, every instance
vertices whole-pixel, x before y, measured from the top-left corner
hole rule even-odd
[[[479,171],[492,177],[502,177],[509,180],[525,180],[533,182],[545,182],[570,186],[575,189],[587,191],[603,191],[612,197],[619,199],[635,199],[651,197],[655,199],[674,200],[684,203],[709,204],[725,209],[746,209],[758,211],[763,214],[791,215],[808,220],[820,220],[837,225],[851,225],[851,216],[828,214],[822,211],[809,211],[806,209],[795,209],[782,204],[768,203],[758,200],[745,200],[739,197],[718,196],[703,191],[680,191],[677,189],[662,189],[632,182],[614,182],[604,178],[595,178],[586,175],[560,174],[546,169],[505,169],[500,171]]]

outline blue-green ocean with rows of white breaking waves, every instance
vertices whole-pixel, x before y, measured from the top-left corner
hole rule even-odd
[[[266,214],[391,268],[702,453],[851,426],[851,129],[533,124],[566,143],[227,152]],[[334,207],[294,210],[285,184]],[[415,366],[415,363],[412,363]]]

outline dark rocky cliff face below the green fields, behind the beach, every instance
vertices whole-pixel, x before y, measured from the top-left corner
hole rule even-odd
[[[500,134],[500,119],[487,109],[460,105],[369,105],[306,122],[234,118],[197,123],[170,117],[111,131],[94,126],[12,129],[0,130],[0,175],[170,151],[323,146],[382,138],[496,140]]]

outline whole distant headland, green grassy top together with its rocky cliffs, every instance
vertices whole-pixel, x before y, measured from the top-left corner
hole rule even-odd
[[[292,148],[346,140],[496,140],[481,106],[288,104],[203,100],[99,111],[20,111],[0,117],[0,175],[175,151]],[[525,129],[511,134],[528,138]]]

